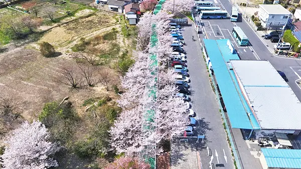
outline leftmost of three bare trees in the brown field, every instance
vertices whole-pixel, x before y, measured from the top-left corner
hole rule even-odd
[[[75,67],[63,67],[59,73],[61,73],[61,78],[59,82],[69,85],[72,88],[78,88],[82,84],[82,77]]]

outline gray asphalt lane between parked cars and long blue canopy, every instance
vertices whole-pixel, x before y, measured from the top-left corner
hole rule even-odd
[[[201,45],[198,40],[192,40],[192,35],[197,39],[197,33],[193,26],[184,27],[182,33],[187,43],[184,49],[187,51],[188,73],[191,79],[191,104],[198,119],[197,133],[195,135],[198,133],[205,134],[205,142],[201,148],[198,148],[202,168],[209,168],[211,154],[213,155],[212,163],[214,166],[219,163],[224,165],[224,168],[234,168],[226,132],[222,125],[223,121],[219,112],[219,105],[209,81]],[[207,146],[210,151],[209,156]]]

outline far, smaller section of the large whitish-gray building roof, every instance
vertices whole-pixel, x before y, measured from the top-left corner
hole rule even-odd
[[[267,60],[230,60],[244,86],[289,86]]]

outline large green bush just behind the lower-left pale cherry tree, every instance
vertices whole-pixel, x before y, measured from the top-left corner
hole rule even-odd
[[[51,139],[67,143],[72,136],[78,116],[70,102],[59,105],[53,101],[45,103],[39,120],[49,129]]]

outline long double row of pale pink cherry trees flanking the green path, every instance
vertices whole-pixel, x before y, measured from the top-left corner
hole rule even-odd
[[[175,74],[167,66],[172,52],[172,37],[167,31],[171,17],[165,11],[156,15],[146,12],[137,24],[138,51],[134,53],[135,63],[122,78],[121,84],[126,92],[118,100],[123,111],[110,130],[110,143],[117,153],[124,152],[131,156],[146,153],[154,156],[162,151],[161,141],[180,134],[188,123],[188,116],[185,114],[188,107],[182,98],[175,97],[178,92],[173,83]],[[150,47],[154,23],[156,27],[153,30],[156,31],[158,42],[155,47]],[[155,54],[158,67],[152,68],[150,64],[154,60],[149,55]],[[149,87],[154,85],[157,85],[156,98],[149,96]],[[155,116],[147,117],[149,110],[155,110]],[[145,122],[145,118],[151,120]],[[156,147],[155,145],[156,149],[145,149]]]

